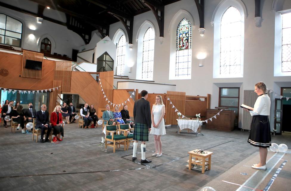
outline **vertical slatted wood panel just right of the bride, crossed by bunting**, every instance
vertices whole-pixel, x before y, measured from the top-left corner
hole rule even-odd
[[[183,115],[185,115],[185,92],[174,92],[174,91],[167,91],[167,96],[171,99],[174,106],[181,112]],[[170,100],[167,100],[166,106],[166,124],[169,125],[176,125],[177,124],[177,112],[175,112],[175,109],[172,108],[172,105],[170,104]]]

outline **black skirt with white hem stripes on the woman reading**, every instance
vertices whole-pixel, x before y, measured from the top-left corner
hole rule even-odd
[[[247,142],[255,147],[267,148],[271,146],[271,130],[267,115],[253,116]]]

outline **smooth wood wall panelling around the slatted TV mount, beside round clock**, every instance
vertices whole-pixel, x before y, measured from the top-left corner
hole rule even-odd
[[[0,68],[9,71],[8,76],[1,76],[0,86],[17,90],[44,90],[53,87],[53,60],[43,60],[42,79],[21,78],[22,55],[0,52]]]

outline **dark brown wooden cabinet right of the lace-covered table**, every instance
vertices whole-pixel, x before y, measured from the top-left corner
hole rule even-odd
[[[206,119],[209,119],[216,115],[219,109],[207,109]],[[212,118],[212,121],[208,120],[206,129],[216,129],[219,131],[233,131],[234,119],[236,118],[235,111],[222,110],[219,115],[216,115],[216,119]]]

